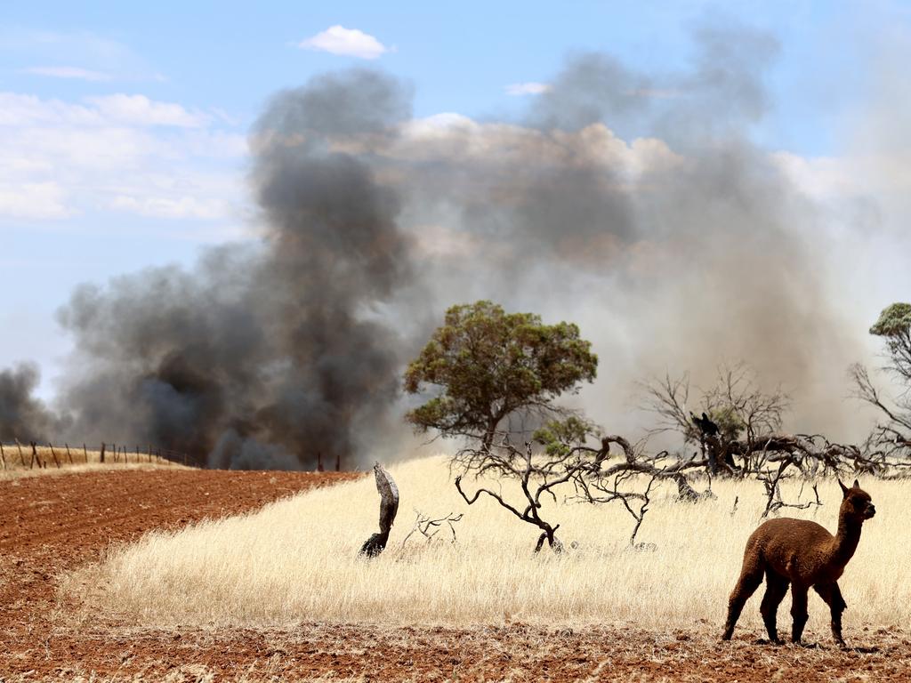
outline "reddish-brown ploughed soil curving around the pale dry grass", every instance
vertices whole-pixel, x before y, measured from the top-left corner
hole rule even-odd
[[[911,634],[853,630],[850,608],[845,637],[857,649],[843,652],[828,640],[772,647],[748,631],[722,644],[722,615],[667,632],[392,627],[382,615],[374,625],[159,630],[87,615],[56,590],[62,573],[109,545],[354,476],[137,470],[0,482],[0,681],[911,679]],[[789,626],[787,603],[779,619]]]

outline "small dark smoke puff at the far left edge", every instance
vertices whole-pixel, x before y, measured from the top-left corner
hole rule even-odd
[[[38,379],[38,369],[31,363],[0,371],[0,441],[45,443],[66,426],[32,395]]]

